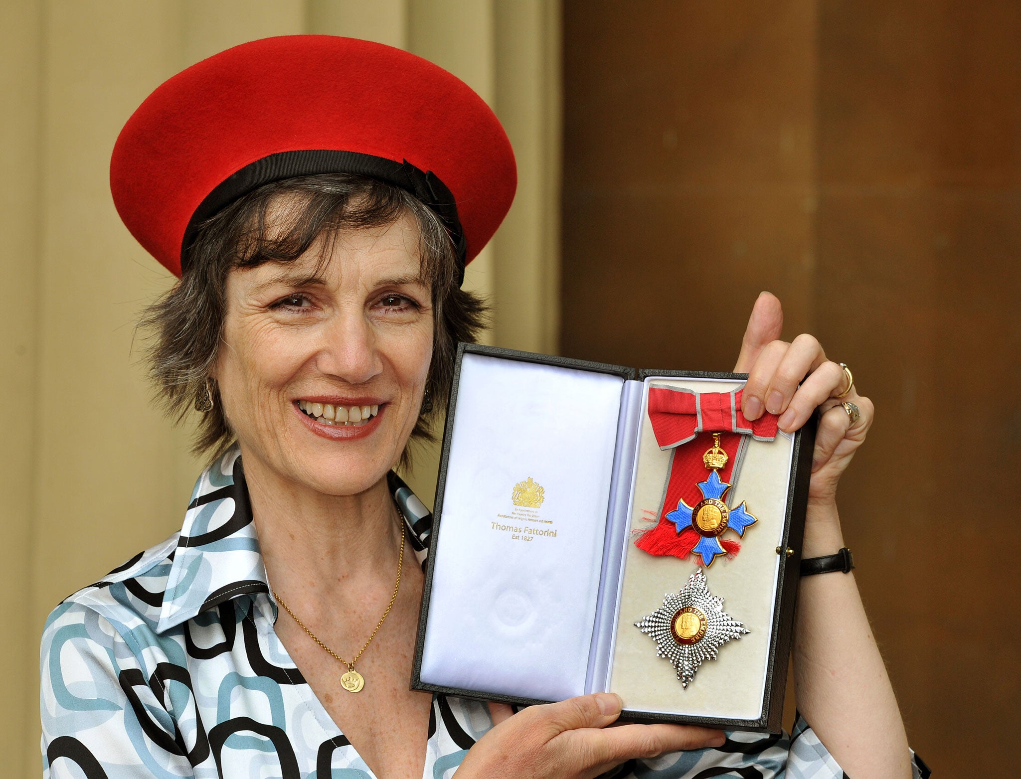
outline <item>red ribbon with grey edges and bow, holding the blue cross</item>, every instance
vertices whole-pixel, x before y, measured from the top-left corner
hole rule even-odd
[[[684,528],[678,533],[677,526],[667,519],[667,515],[677,508],[682,498],[688,505],[701,500],[698,482],[709,476],[702,454],[713,445],[713,433],[722,433],[720,445],[729,455],[727,465],[718,470],[725,482],[730,481],[741,435],[760,441],[776,438],[777,416],[765,413],[758,420],[746,420],[741,413],[742,392],[743,389],[692,392],[673,387],[649,387],[648,420],[660,448],[672,449],[689,441],[691,445],[674,452],[660,521],[635,539],[639,549],[649,554],[671,554],[686,559],[698,543],[699,536],[692,528]],[[721,538],[720,543],[728,556],[741,548],[739,542],[730,539]]]

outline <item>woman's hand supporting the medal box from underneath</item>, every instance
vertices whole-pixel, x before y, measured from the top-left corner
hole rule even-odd
[[[468,750],[457,779],[592,779],[634,758],[720,746],[723,731],[686,725],[618,725],[618,695],[599,692],[516,715],[490,703],[496,726]]]

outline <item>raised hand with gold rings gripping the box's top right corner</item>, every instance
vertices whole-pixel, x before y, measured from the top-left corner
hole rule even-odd
[[[799,335],[790,343],[781,341],[783,308],[775,295],[764,292],[756,300],[741,342],[734,371],[748,374],[741,396],[741,411],[757,420],[765,411],[780,415],[780,429],[800,428],[820,407],[816,449],[812,461],[810,502],[833,501],[840,475],[872,425],[872,401],[847,387],[847,376],[826,353],[816,338]],[[804,381],[803,381],[804,380]],[[858,406],[860,417],[852,423],[842,402]]]

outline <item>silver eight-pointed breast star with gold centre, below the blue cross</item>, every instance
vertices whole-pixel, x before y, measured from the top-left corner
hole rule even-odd
[[[720,647],[731,638],[751,632],[723,611],[723,598],[709,591],[700,568],[680,592],[668,592],[663,605],[635,627],[655,641],[657,656],[670,661],[682,687],[694,679],[702,661],[716,660]]]

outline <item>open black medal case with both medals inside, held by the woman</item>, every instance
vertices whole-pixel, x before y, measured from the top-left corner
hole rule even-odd
[[[779,732],[815,431],[745,378],[460,344],[412,688]]]

